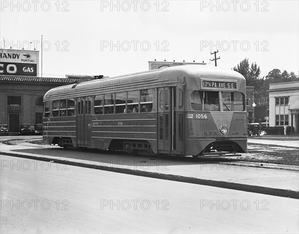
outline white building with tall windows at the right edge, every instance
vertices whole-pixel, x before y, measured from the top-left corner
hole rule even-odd
[[[299,81],[273,83],[269,87],[270,127],[288,125],[299,132]]]

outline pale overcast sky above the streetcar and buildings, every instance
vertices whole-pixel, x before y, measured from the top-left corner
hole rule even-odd
[[[154,59],[209,63],[217,50],[218,67],[248,58],[261,76],[299,75],[298,0],[0,1],[1,48],[36,47],[39,73],[41,37],[42,77],[113,77]]]

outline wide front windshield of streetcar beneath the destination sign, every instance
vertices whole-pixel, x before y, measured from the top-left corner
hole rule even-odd
[[[190,98],[193,110],[243,111],[245,109],[241,92],[195,90]]]

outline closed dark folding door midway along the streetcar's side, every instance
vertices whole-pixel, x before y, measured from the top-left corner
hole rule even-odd
[[[77,99],[77,145],[91,146],[91,96]]]

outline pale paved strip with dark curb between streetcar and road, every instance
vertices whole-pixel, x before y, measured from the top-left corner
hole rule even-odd
[[[79,152],[57,146],[37,145],[37,148],[24,144],[0,143],[0,155],[299,199],[299,171],[209,163],[207,159],[163,160],[107,151]],[[10,166],[9,160],[4,161],[1,157],[2,166]]]

